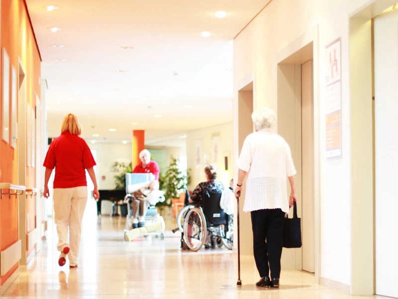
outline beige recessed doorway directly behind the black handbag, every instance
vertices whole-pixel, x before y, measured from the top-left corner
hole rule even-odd
[[[296,166],[302,231],[302,247],[284,248],[281,264],[282,269],[309,273],[315,273],[313,73],[313,42],[277,65],[278,134],[289,144]]]

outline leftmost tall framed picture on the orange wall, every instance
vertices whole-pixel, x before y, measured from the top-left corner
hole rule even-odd
[[[1,139],[9,143],[9,57],[2,48]]]

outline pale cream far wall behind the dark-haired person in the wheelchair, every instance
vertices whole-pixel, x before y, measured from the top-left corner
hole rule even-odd
[[[215,165],[218,170],[217,180],[223,181],[226,187],[229,186],[229,179],[233,176],[233,162],[232,162],[232,123],[227,123],[223,125],[218,125],[214,127],[208,127],[196,131],[191,131],[187,133],[187,164],[188,168],[191,168],[191,185],[190,190],[193,190],[200,182],[205,181],[204,176],[204,163],[203,155],[205,153],[210,153],[210,159],[213,159],[213,149],[212,149],[212,136],[220,136],[220,149],[219,149],[219,162]],[[196,142],[197,140],[202,141],[202,154],[200,165],[196,164]],[[228,170],[225,171],[224,166],[224,154],[229,154],[228,156]],[[207,162],[207,164],[211,164]]]

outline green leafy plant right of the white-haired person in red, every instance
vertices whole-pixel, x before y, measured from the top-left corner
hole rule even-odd
[[[159,175],[159,189],[165,191],[164,202],[159,202],[157,206],[171,206],[171,200],[180,196],[180,190],[187,188],[191,181],[188,171],[182,171],[178,167],[180,160],[172,157],[170,165],[164,175]],[[190,169],[189,169],[190,170]]]

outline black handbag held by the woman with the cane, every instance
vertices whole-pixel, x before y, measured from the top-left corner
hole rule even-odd
[[[296,202],[293,205],[293,218],[289,215],[285,217],[283,227],[283,247],[300,248],[301,247],[301,218],[297,217]]]

